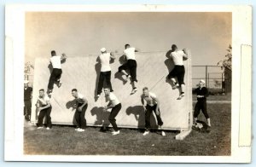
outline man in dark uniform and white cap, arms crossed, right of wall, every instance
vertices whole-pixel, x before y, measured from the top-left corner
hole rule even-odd
[[[194,112],[194,118],[195,118],[195,124],[197,122],[197,117],[200,113],[200,110],[203,112],[205,117],[207,118],[207,124],[209,127],[211,127],[211,120],[207,113],[207,96],[208,96],[208,89],[205,87],[205,81],[200,80],[198,83],[199,87],[195,89],[197,102],[195,104],[195,112]]]

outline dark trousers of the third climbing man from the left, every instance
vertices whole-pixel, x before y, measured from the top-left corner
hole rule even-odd
[[[131,81],[137,82],[137,61],[136,60],[127,60],[125,64],[119,66],[119,72],[122,70],[129,70],[131,73]]]

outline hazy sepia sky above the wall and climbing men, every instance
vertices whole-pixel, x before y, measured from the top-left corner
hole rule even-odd
[[[192,65],[216,65],[227,53],[231,13],[26,13],[26,61],[49,57],[121,53],[125,43],[141,51],[188,48]]]

